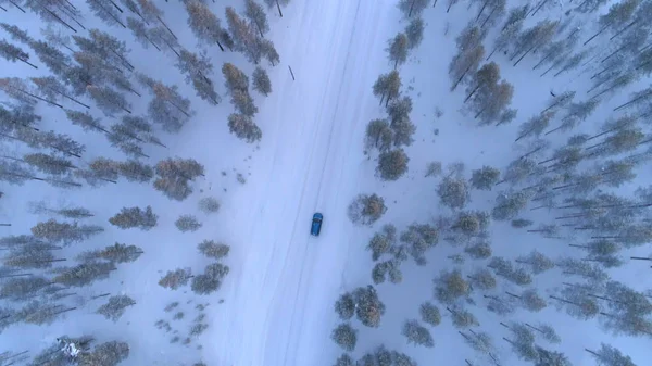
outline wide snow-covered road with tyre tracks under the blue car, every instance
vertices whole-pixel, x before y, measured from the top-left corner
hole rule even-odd
[[[261,111],[255,175],[231,218],[248,228],[239,234],[241,262],[223,289],[208,359],[291,366],[331,357],[324,345],[352,244],[346,206],[359,193],[361,139],[376,103],[371,86],[387,68],[380,29],[392,7],[333,0],[288,8],[294,17],[276,42],[280,66],[289,63],[297,80],[276,71],[274,97]],[[316,211],[325,216],[319,238],[309,235]]]

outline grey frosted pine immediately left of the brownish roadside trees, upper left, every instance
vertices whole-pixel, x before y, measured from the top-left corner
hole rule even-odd
[[[179,52],[176,66],[186,75],[186,84],[192,84],[197,96],[212,104],[222,100],[214,88],[214,83],[209,78],[213,64],[205,52],[192,53],[187,50]]]

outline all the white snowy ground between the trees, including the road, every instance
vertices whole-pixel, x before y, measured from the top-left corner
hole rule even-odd
[[[242,10],[239,1],[234,3],[237,10]],[[71,193],[37,182],[22,188],[2,184],[5,197],[0,201],[0,220],[12,223],[10,228],[0,228],[2,236],[26,234],[36,222],[47,219],[26,211],[27,201],[46,199],[52,204],[82,204],[96,213],[91,224],[106,228],[89,242],[78,244],[84,248],[67,249],[68,255],[115,241],[140,245],[146,253],[135,263],[121,265],[109,280],[92,286],[93,294],[124,293],[137,301],[116,324],[95,314],[101,300],[91,300],[79,303],[79,311],[51,326],[21,325],[5,329],[0,335],[0,351],[29,349],[36,354],[60,335],[91,333],[102,340],[127,341],[131,353],[124,362],[126,366],[190,365],[200,359],[209,366],[331,365],[341,354],[330,340],[330,331],[338,321],[334,302],[340,293],[372,282],[373,263],[365,247],[374,230],[387,223],[402,230],[414,222],[428,223],[439,215],[450,215],[449,209],[437,203],[437,180],[424,177],[426,164],[440,161],[446,166],[461,161],[466,165],[467,176],[471,169],[482,165],[504,168],[527,149],[528,142],[512,143],[517,126],[547,105],[551,89],[559,93],[576,87],[574,79],[530,75],[531,60],[526,59],[513,67],[506,58],[497,54],[493,60],[501,65],[503,77],[514,84],[512,103],[519,110],[518,117],[511,126],[475,126],[473,116],[460,111],[464,92],[451,93],[448,76],[448,64],[455,53],[454,38],[475,12],[466,9],[466,2],[456,4],[450,13],[446,12],[444,3],[428,8],[424,13],[424,41],[411,52],[408,63],[400,66],[402,90],[413,98],[412,119],[417,126],[415,142],[406,149],[410,171],[396,182],[383,182],[375,178],[376,162],[363,154],[362,141],[368,121],[386,114],[372,94],[372,85],[379,74],[391,70],[385,50],[387,40],[406,24],[396,3],[389,0],[293,0],[284,9],[284,17],[274,10],[268,12],[272,31],[267,37],[275,42],[281,63],[266,67],[272,94],[256,97],[260,113],[255,121],[263,130],[263,138],[255,146],[246,144],[228,132],[226,117],[231,106],[227,98],[218,106],[195,98],[171,58],[143,50],[131,43],[128,31],[112,28],[112,34],[129,40],[137,70],[166,84],[178,85],[185,96],[192,97],[192,108],[197,111],[180,134],[162,135],[168,149],[148,151],[151,160],[192,157],[205,166],[206,177],[199,179],[196,192],[180,203],[168,201],[148,185],[123,182]],[[226,4],[211,7],[223,17]],[[171,2],[162,3],[161,8],[181,43],[192,48],[196,40],[187,29],[183,5]],[[7,14],[0,13],[0,16]],[[40,25],[32,14],[11,14],[12,18],[0,20],[28,28],[34,36],[38,34]],[[104,28],[99,20],[88,16],[87,25],[91,22]],[[491,39],[489,37],[488,42]],[[489,45],[487,49],[491,48]],[[220,52],[216,47],[209,48],[209,54],[214,63],[214,79],[218,80],[217,88],[223,94],[221,66],[224,62],[233,62],[248,74],[253,68],[241,55]],[[27,66],[1,65],[0,76],[46,74],[45,67],[33,73]],[[577,89],[584,94],[586,88]],[[618,94],[609,105],[627,99],[628,93]],[[134,103],[137,111],[145,111],[145,101]],[[436,116],[436,109],[443,115]],[[45,126],[76,134],[88,144],[86,161],[102,155],[121,159],[118,152],[109,150],[102,137],[80,134],[79,128],[65,122],[60,111],[42,105],[39,111],[49,116],[43,121]],[[597,113],[607,111],[611,108],[601,106]],[[595,131],[598,122],[587,123],[582,128]],[[237,182],[238,173],[246,177],[246,184]],[[378,193],[388,206],[387,214],[373,228],[354,226],[347,217],[347,206],[359,193]],[[199,231],[177,231],[173,222],[180,214],[196,213],[199,199],[209,195],[220,199],[220,212],[200,215],[203,227]],[[496,191],[474,191],[472,209],[490,210],[494,197]],[[108,224],[108,218],[121,207],[134,205],[151,205],[160,215],[158,227],[142,232],[118,230]],[[325,216],[318,238],[309,235],[314,212]],[[529,218],[537,223],[550,220],[543,212],[531,214]],[[544,240],[517,231],[505,223],[492,224],[490,234],[494,255],[510,258],[542,245],[547,245],[547,253],[551,255],[563,254],[568,248],[562,240]],[[158,281],[166,270],[189,266],[199,272],[209,263],[196,249],[204,239],[231,245],[226,261],[230,273],[220,291],[197,296],[189,289],[170,291],[159,287]],[[444,311],[442,324],[431,329],[435,349],[415,348],[401,336],[403,321],[418,318],[421,303],[431,300],[432,278],[439,270],[453,267],[447,256],[459,251],[441,242],[428,253],[428,266],[417,267],[410,262],[403,267],[403,283],[378,286],[387,313],[379,329],[359,327],[364,329],[360,329],[359,343],[352,353],[355,358],[385,344],[409,354],[419,365],[429,365],[432,359],[446,365],[463,365],[464,358],[475,359]],[[649,253],[643,249],[632,254]],[[628,264],[614,277],[645,278],[647,274],[647,266]],[[556,282],[559,278],[536,277],[534,285],[544,290]],[[644,283],[641,286],[644,288]],[[79,290],[84,291],[88,294],[89,290]],[[184,319],[173,320],[172,314],[176,311],[163,311],[173,301],[178,301],[177,308],[186,313]],[[195,307],[208,303],[205,311]],[[481,329],[494,337],[503,365],[524,365],[510,355],[507,344],[502,342],[505,335],[500,319],[485,312],[481,305],[471,310],[480,319]],[[209,328],[199,339],[189,345],[170,343],[174,335],[184,339],[191,319],[202,313]],[[559,350],[564,351],[574,365],[593,365],[584,348],[595,349],[604,340],[631,355],[638,365],[645,365],[649,358],[648,340],[612,339],[601,333],[594,321],[579,323],[552,308],[535,317],[517,312],[515,318],[551,323],[562,336]],[[159,319],[170,321],[168,332],[154,327]],[[478,361],[477,365],[484,362]]]

